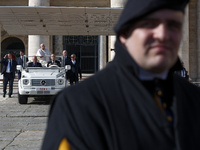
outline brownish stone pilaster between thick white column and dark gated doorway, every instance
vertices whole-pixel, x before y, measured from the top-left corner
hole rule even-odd
[[[55,55],[62,55],[63,51],[63,36],[55,35],[54,36],[54,53]]]

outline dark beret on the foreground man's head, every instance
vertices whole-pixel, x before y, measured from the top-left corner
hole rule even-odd
[[[172,9],[184,12],[189,0],[128,0],[114,30],[117,35],[129,21],[137,21],[159,9]]]

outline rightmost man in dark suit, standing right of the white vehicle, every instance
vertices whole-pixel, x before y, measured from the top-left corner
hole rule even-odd
[[[80,74],[80,80],[82,79],[82,73],[79,63],[76,61],[76,55],[71,55],[71,70],[69,70],[69,80],[70,85],[73,85],[73,83],[78,83],[78,74]]]

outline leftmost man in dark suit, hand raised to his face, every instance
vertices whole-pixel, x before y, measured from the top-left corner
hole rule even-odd
[[[15,78],[15,71],[17,62],[12,59],[12,54],[6,54],[1,60],[3,64],[2,72],[3,74],[3,97],[6,95],[7,84],[9,81],[9,97],[13,93],[13,81]]]

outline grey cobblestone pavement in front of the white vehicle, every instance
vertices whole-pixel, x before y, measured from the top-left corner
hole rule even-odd
[[[39,150],[46,129],[50,98],[18,103],[17,92],[3,98],[0,91],[0,149]]]

